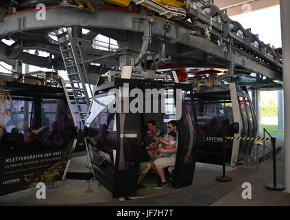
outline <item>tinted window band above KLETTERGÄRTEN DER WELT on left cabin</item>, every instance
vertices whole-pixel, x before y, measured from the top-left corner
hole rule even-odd
[[[45,99],[37,104],[26,97],[2,96],[0,109],[2,149],[21,150],[45,146],[67,146],[73,140],[73,118],[65,100]],[[39,120],[39,121],[38,121]],[[40,124],[40,126],[37,126]]]

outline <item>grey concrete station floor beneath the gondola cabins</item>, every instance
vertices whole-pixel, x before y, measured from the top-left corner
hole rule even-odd
[[[277,158],[278,182],[284,184],[283,152]],[[87,171],[85,159],[73,159],[71,169]],[[110,192],[97,181],[91,183],[93,192],[86,192],[88,183],[84,180],[58,181],[58,188],[47,188],[47,199],[36,199],[36,188],[31,188],[0,197],[0,206],[290,206],[290,194],[265,189],[265,184],[272,181],[271,167],[269,159],[260,164],[258,170],[246,165],[227,168],[232,181],[221,183],[215,180],[221,175],[221,166],[197,163],[192,186],[182,190],[156,190],[154,193],[158,196],[125,201],[112,199]],[[241,197],[244,182],[252,184],[252,199]]]

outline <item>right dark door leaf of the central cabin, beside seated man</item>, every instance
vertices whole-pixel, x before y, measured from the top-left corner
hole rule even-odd
[[[179,93],[177,92],[176,96],[181,96]],[[192,184],[197,159],[197,120],[193,107],[193,94],[190,91],[182,91],[182,93],[186,93],[186,97],[182,98],[182,103],[176,103],[180,104],[182,114],[178,120],[179,142],[176,155],[176,177],[173,184],[175,188]]]

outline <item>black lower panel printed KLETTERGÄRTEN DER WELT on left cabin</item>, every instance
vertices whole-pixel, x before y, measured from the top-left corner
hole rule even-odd
[[[0,195],[62,179],[71,147],[0,153]]]

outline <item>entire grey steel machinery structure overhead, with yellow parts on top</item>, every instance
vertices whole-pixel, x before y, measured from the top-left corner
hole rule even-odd
[[[36,2],[45,3],[46,8],[35,8]],[[21,61],[68,70],[56,33],[61,28],[73,28],[71,38],[80,45],[80,65],[86,67],[87,75],[101,75],[124,65],[144,71],[184,68],[189,73],[195,68],[221,68],[228,69],[229,78],[253,78],[250,74],[254,73],[257,87],[280,87],[275,82],[282,81],[281,50],[260,41],[258,35],[210,2],[0,1],[0,38],[14,42],[0,42],[0,60],[12,66]],[[37,19],[43,10],[45,19]],[[116,40],[117,51],[96,49],[98,34]],[[49,56],[39,56],[37,51]]]

